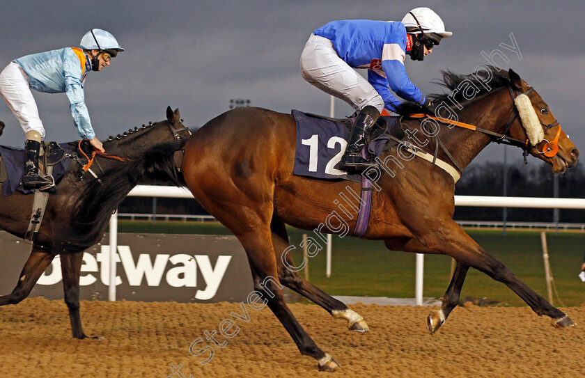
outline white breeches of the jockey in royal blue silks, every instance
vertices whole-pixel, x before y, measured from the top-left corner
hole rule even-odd
[[[384,100],[353,68],[341,59],[327,38],[311,34],[301,54],[301,74],[329,95],[341,98],[360,111],[367,105],[382,112]]]

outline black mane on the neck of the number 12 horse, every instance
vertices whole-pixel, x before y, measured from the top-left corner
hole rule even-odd
[[[508,71],[500,70],[492,65],[487,65],[488,70],[492,73],[492,79],[487,82],[488,72],[486,70],[477,70],[471,74],[457,74],[451,70],[441,71],[442,78],[434,81],[436,84],[447,88],[448,93],[432,93],[428,97],[433,104],[439,105],[445,102],[447,106],[453,104],[453,102],[465,102],[468,99],[465,98],[465,92],[457,90],[458,86],[464,81],[472,84],[476,90],[474,92],[474,98],[490,93],[492,90],[497,88],[505,88],[510,85],[510,77]],[[414,104],[413,102],[404,102],[398,107],[398,113],[409,114],[409,113],[421,113],[421,107]]]

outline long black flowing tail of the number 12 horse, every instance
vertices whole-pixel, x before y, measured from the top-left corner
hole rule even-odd
[[[104,172],[100,181],[89,183],[75,203],[70,224],[60,230],[59,244],[55,245],[61,251],[82,251],[98,243],[112,212],[137,184],[162,182],[185,186],[174,163],[175,152],[185,143],[186,139],[180,139],[157,144],[139,159],[116,164]]]

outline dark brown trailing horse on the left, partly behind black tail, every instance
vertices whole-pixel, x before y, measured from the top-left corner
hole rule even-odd
[[[72,227],[71,218],[75,205],[79,201],[81,203],[86,201],[95,203],[96,206],[105,205],[108,208],[115,209],[123,200],[123,197],[118,198],[115,203],[111,203],[107,198],[104,198],[103,203],[95,202],[95,198],[83,196],[84,189],[96,183],[100,186],[107,185],[107,180],[102,180],[103,176],[113,169],[118,169],[120,166],[137,166],[139,164],[137,159],[142,156],[144,151],[153,147],[156,143],[176,139],[185,141],[188,135],[190,135],[189,129],[182,125],[179,110],[176,109],[173,112],[171,107],[168,107],[166,109],[166,120],[150,125],[142,125],[141,128],[134,127],[134,129],[129,129],[128,132],[118,134],[116,137],[110,136],[109,140],[103,143],[107,154],[121,157],[126,161],[111,159],[99,154],[95,155],[90,169],[98,176],[100,181],[89,172],[85,173],[84,178],[80,180],[80,174],[84,173],[81,164],[86,164],[87,159],[84,159],[83,154],[81,154],[78,142],[65,144],[65,148],[71,150],[73,155],[77,155],[78,160],[72,159],[70,161],[63,178],[56,184],[56,191],[54,194],[49,194],[45,216],[42,219],[38,235],[31,246],[31,255],[22,268],[20,279],[14,290],[10,294],[0,297],[0,306],[17,304],[28,297],[42,272],[47,269],[54,257],[60,253],[65,304],[67,304],[69,310],[73,337],[86,338],[87,336],[81,327],[81,317],[79,316],[79,275],[83,251],[88,246],[100,241],[107,227],[111,211],[108,214],[103,212],[86,214],[86,221],[93,221],[97,226],[93,228],[91,233],[84,233],[77,240],[68,239],[68,235],[72,233],[70,230]],[[88,155],[90,154],[88,153]],[[180,164],[180,156],[177,156],[177,158],[176,164]],[[78,164],[78,162],[81,164]],[[116,182],[116,185],[126,184],[132,189],[139,182],[150,182],[150,180],[156,179],[156,175],[150,175],[146,171],[141,172],[143,175],[134,175],[132,180],[126,176],[123,178],[125,182]],[[153,172],[150,171],[150,173]],[[0,228],[17,237],[24,237],[31,219],[33,198],[33,194],[22,194],[20,191],[15,191],[10,196],[0,196]],[[105,202],[107,204],[104,204]],[[79,233],[76,235],[79,235]]]

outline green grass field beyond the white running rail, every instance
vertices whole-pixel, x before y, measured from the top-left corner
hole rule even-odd
[[[119,221],[120,233],[196,233],[229,235],[218,223]],[[299,243],[304,230],[289,228],[295,262],[302,261]],[[504,237],[497,230],[467,230],[478,244],[501,262],[504,262],[526,285],[547,297],[543,252],[540,233],[511,230]],[[309,233],[310,235],[310,233]],[[559,292],[565,306],[585,303],[585,283],[577,274],[582,264],[585,233],[547,233],[549,260]],[[331,277],[325,276],[325,249],[309,259],[309,279],[331,295],[358,295],[368,297],[414,297],[415,255],[389,251],[380,241],[361,240],[353,237],[333,236]],[[425,255],[424,297],[441,297],[449,283],[451,258],[444,255]],[[301,274],[303,272],[301,271]],[[504,284],[469,269],[461,293],[464,297],[487,297],[505,306],[526,306],[524,301]],[[555,306],[561,306],[554,297]]]

